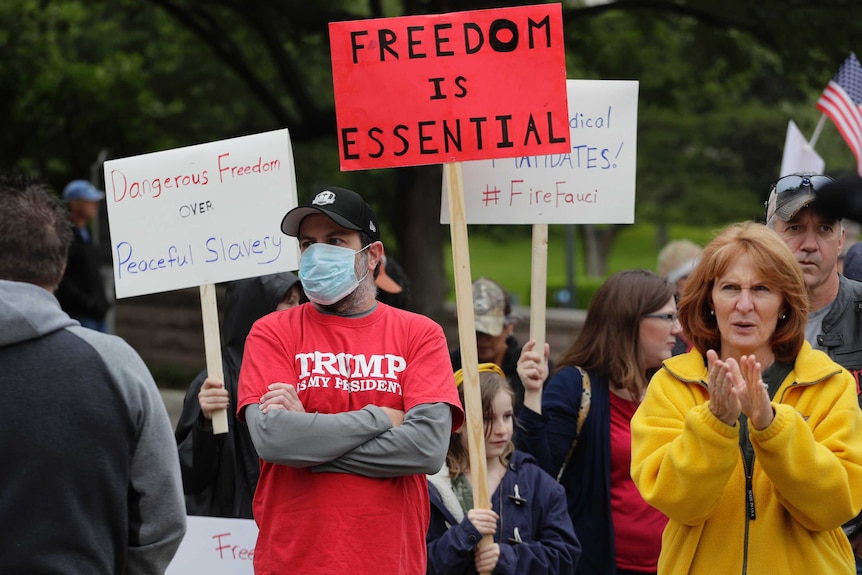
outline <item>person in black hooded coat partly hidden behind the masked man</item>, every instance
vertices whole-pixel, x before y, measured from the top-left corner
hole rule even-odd
[[[304,298],[299,278],[281,272],[230,282],[225,299],[224,381],[209,377],[207,370],[198,374],[183,400],[175,437],[189,515],[252,519],[260,460],[248,427],[230,409],[237,403],[245,338],[255,321]],[[227,409],[229,432],[215,435],[213,414],[222,409]]]

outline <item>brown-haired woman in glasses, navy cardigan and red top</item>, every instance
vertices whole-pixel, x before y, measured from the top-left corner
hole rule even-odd
[[[674,287],[651,271],[628,270],[596,292],[544,389],[548,345],[540,355],[530,341],[521,353],[526,394],[516,444],[566,490],[583,549],[578,574],[656,572],[667,518],[631,480],[629,422],[680,329]]]

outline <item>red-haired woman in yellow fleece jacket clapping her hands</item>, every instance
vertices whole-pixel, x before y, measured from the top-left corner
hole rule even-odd
[[[805,341],[793,253],[748,222],[704,249],[680,301],[694,344],[632,419],[632,478],[664,512],[662,574],[855,573],[862,507],[853,377]]]

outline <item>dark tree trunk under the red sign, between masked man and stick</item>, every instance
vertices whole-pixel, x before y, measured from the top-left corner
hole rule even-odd
[[[410,309],[438,319],[443,314],[446,278],[443,269],[443,232],[440,224],[441,166],[399,170],[402,222],[398,230],[401,265],[410,282]]]

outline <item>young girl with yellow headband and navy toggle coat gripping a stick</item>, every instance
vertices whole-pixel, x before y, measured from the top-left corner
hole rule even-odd
[[[463,380],[455,372],[462,403]],[[479,387],[491,509],[473,506],[467,430],[461,428],[449,439],[446,464],[428,476],[428,575],[571,575],[581,549],[565,492],[532,456],[515,451],[515,394],[503,370],[479,364]],[[485,535],[493,543],[477,548]]]

